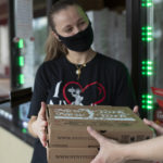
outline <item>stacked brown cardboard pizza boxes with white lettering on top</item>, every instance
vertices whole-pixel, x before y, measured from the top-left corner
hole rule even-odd
[[[48,105],[46,115],[49,163],[90,163],[99,143],[87,133],[87,126],[122,143],[153,136],[129,108]]]

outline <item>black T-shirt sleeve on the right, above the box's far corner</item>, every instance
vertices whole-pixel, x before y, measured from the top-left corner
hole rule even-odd
[[[113,104],[134,109],[137,104],[129,73],[125,65],[120,63],[116,68]]]

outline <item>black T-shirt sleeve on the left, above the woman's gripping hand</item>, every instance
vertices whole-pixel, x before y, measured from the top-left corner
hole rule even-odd
[[[41,102],[47,101],[48,86],[49,86],[48,78],[46,76],[46,71],[42,64],[36,73],[36,78],[35,78],[35,84],[34,84],[34,93],[32,97],[28,118],[30,118],[30,116],[33,115],[37,116],[41,106]]]

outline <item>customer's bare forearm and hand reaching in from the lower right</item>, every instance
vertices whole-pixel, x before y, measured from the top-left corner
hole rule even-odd
[[[100,151],[91,163],[122,163],[128,160],[163,161],[163,136],[123,145],[104,138],[90,127],[87,130],[100,143]]]

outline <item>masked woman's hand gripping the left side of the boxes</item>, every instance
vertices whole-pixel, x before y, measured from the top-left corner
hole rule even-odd
[[[34,133],[38,136],[43,147],[47,146],[46,127],[48,122],[46,120],[46,103],[41,102],[41,109],[38,113],[37,120],[32,125]]]

